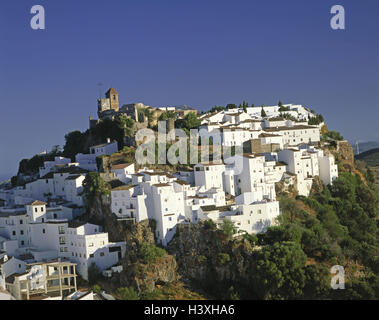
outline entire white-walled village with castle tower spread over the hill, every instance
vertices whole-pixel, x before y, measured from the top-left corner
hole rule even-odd
[[[143,127],[136,112],[141,107],[154,109],[141,103],[119,107],[118,93],[110,89],[98,101],[99,120],[90,118],[90,126],[124,113]],[[161,111],[180,117],[194,112],[187,107]],[[243,154],[178,172],[119,163],[107,173],[120,181],[108,196],[115,218],[155,220],[158,245],[170,243],[178,224],[209,219],[217,225],[232,221],[237,235],[265,232],[278,223],[281,212],[277,184],[308,196],[315,179],[328,185],[338,177],[333,155],[321,148],[324,123],[310,125],[315,113],[308,108],[237,107],[197,116],[203,134],[220,132],[223,146],[243,146]],[[0,189],[0,292],[6,290],[15,299],[62,299],[65,294],[67,299],[93,299],[91,292],[78,291],[77,277],[88,279],[93,263],[107,277],[122,270],[125,242],[109,242],[100,226],[75,221],[86,210],[86,175],[98,171],[99,156],[118,151],[117,142],[108,139],[92,146],[89,154],[77,154],[75,162],[56,157],[25,185]],[[242,170],[228,160],[242,163]]]

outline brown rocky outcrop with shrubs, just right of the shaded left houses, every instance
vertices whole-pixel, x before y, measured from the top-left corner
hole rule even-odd
[[[177,263],[172,255],[165,253],[154,263],[145,263],[141,257],[141,245],[154,245],[154,221],[141,223],[117,221],[110,211],[106,196],[97,197],[91,204],[85,221],[96,223],[108,232],[109,241],[125,241],[126,255],[121,264],[123,271],[115,274],[110,280],[101,281],[103,288],[114,292],[119,287],[133,287],[143,294],[152,292],[157,285],[174,283],[179,280]]]

